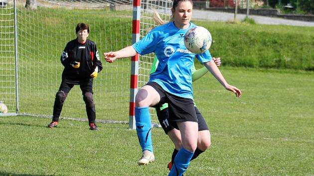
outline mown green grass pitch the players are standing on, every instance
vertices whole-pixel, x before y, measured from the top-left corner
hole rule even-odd
[[[184,176],[313,176],[314,73],[221,68],[236,98],[207,74],[195,82],[195,102],[211,131],[212,145]],[[156,161],[139,167],[141,149],[127,124],[0,116],[0,175],[166,176],[173,146],[153,129]]]

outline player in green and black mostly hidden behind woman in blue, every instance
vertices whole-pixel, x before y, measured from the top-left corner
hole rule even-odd
[[[220,58],[212,58],[212,59],[214,60],[217,67],[221,65]],[[158,59],[155,56],[151,74],[156,71],[157,65],[158,65]],[[202,76],[204,76],[208,72],[206,67],[202,67],[201,69],[195,70],[194,65],[192,66],[191,71],[192,71],[192,82],[200,79]],[[197,139],[197,148],[191,160],[194,160],[195,158],[197,158],[199,154],[203,153],[205,150],[207,150],[210,147],[210,132],[207,127],[206,121],[204,120],[202,114],[199,112],[199,110],[197,109],[195,105],[194,105],[194,108],[195,108],[197,123],[198,123],[198,139]],[[171,124],[171,120],[168,113],[168,103],[164,103],[161,106],[156,107],[156,112],[157,112],[158,121],[163,131],[165,132],[166,135],[169,136],[169,138],[174,144],[174,150],[171,156],[171,161],[169,162],[167,166],[167,168],[171,170],[174,158],[182,146],[181,134],[180,134],[180,131],[176,129],[174,126],[172,126]]]

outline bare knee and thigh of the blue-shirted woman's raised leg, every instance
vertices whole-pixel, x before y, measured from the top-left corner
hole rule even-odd
[[[145,85],[135,96],[136,107],[154,106],[160,101],[160,95],[155,88]]]

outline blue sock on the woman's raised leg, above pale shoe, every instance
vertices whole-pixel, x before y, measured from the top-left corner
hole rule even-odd
[[[148,107],[135,107],[135,125],[142,151],[153,152],[152,121]]]

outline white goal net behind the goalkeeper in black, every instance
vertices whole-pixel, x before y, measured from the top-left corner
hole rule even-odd
[[[0,0],[3,1],[3,0]],[[10,113],[51,117],[55,94],[61,83],[61,53],[76,38],[77,23],[90,26],[90,40],[97,45],[103,70],[94,80],[96,119],[129,121],[130,58],[109,64],[103,53],[117,51],[134,41],[132,23],[136,12],[130,0],[37,0],[25,8],[25,0],[7,0],[0,6],[0,101]],[[155,27],[153,10],[170,18],[171,0],[142,0],[140,38]],[[16,31],[15,31],[16,28]],[[132,38],[133,37],[133,38]],[[154,55],[139,57],[138,88],[149,80]],[[158,123],[154,109],[153,124]],[[87,120],[79,86],[69,92],[61,118]]]

